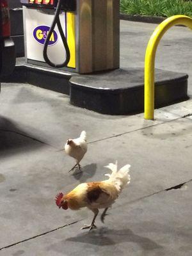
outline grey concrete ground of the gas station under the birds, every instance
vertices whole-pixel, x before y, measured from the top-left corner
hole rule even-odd
[[[156,26],[121,22],[122,67],[143,67]],[[157,68],[190,75],[190,36],[172,28],[159,45]],[[67,95],[29,84],[2,84],[0,100],[0,255],[191,256],[192,99],[156,109],[154,121],[76,108]],[[83,173],[69,174],[74,160],[61,149],[83,129]],[[97,230],[79,230],[92,212],[58,210],[54,196],[106,179],[104,166],[116,159],[131,164],[131,184],[105,224],[98,217]]]

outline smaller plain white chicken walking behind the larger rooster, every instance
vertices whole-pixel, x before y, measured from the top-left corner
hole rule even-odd
[[[68,171],[71,172],[78,166],[78,169],[81,170],[80,161],[83,159],[84,154],[87,151],[86,143],[86,131],[81,132],[81,135],[77,139],[68,139],[65,144],[65,152],[68,156],[74,157],[76,159],[76,164]]]

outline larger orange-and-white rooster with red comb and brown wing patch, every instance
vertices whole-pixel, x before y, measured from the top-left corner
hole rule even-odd
[[[55,198],[56,205],[64,210],[68,208],[79,210],[82,207],[88,207],[94,213],[92,223],[84,225],[81,229],[89,228],[91,230],[92,228],[97,228],[95,226],[95,219],[99,209],[104,209],[101,215],[101,221],[104,223],[108,208],[111,207],[122,189],[131,180],[129,175],[131,165],[126,164],[120,170],[117,170],[117,162],[116,164],[110,163],[105,167],[112,171],[111,174],[106,174],[109,177],[108,180],[81,183],[67,195],[59,193]]]

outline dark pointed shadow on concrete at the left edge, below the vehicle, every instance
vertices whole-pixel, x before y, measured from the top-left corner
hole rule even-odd
[[[17,124],[0,116],[0,158],[21,151],[35,150],[45,144],[20,129]]]

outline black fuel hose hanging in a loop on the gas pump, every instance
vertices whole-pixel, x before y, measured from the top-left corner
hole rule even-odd
[[[55,12],[55,15],[54,15],[54,20],[52,21],[51,28],[49,30],[49,33],[48,33],[47,38],[46,38],[45,43],[44,43],[44,60],[47,62],[47,64],[49,64],[51,67],[54,67],[54,68],[66,67],[69,60],[70,60],[70,51],[68,49],[67,40],[66,40],[65,35],[63,33],[63,29],[61,27],[61,22],[60,22],[60,10],[61,10],[62,1],[63,0],[58,0],[58,4],[56,6],[56,12]],[[49,58],[47,56],[47,47],[49,45],[49,40],[51,38],[52,32],[54,31],[54,28],[55,28],[56,24],[58,25],[58,29],[60,31],[61,39],[62,39],[63,45],[65,47],[65,51],[66,51],[65,61],[61,64],[52,63],[52,61],[49,60]]]

